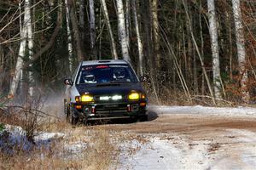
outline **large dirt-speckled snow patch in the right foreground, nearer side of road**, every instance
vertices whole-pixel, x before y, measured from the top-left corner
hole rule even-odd
[[[185,136],[154,137],[140,145],[133,155],[125,153],[120,159],[119,170],[150,169],[247,169],[256,167],[256,133],[241,129],[227,129],[224,137],[211,140],[190,140]],[[128,147],[126,144],[125,147]]]

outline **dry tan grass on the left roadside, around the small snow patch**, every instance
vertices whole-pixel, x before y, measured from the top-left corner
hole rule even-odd
[[[0,120],[26,129],[26,122],[34,117],[20,118],[20,112],[1,111]],[[27,140],[20,144],[9,145],[11,152],[3,151],[0,146],[0,169],[108,169],[117,165],[118,147],[113,144],[110,132],[104,128],[88,128],[84,125],[73,127],[64,120],[51,116],[35,120],[37,133],[65,133],[63,139],[52,139],[50,144],[31,144],[24,150]],[[33,126],[32,126],[33,127]],[[36,134],[36,133],[35,133]],[[0,142],[9,143],[9,133],[0,135]]]

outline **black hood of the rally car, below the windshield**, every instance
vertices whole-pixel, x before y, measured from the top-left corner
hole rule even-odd
[[[89,93],[92,95],[104,95],[104,94],[129,94],[131,90],[137,92],[144,92],[140,82],[131,83],[101,83],[90,85],[76,85],[79,94]]]

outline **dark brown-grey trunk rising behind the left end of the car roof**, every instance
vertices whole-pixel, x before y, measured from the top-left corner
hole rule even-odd
[[[77,57],[79,61],[84,60],[84,55],[82,51],[82,45],[81,45],[81,37],[80,37],[80,31],[79,31],[79,25],[78,20],[75,14],[75,5],[73,4],[73,0],[67,1],[69,9],[70,9],[70,20],[73,27],[73,34],[74,34],[74,40],[76,43],[76,49],[77,49]]]

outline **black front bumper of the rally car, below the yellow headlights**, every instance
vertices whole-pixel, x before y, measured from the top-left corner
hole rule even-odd
[[[79,106],[80,105],[80,106]],[[74,104],[78,116],[86,120],[135,118],[146,115],[146,101]],[[81,107],[78,109],[78,106]]]

